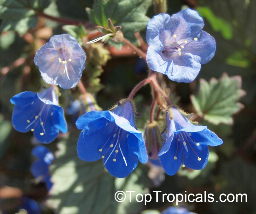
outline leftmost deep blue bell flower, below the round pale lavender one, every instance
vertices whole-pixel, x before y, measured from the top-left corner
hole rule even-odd
[[[41,143],[50,143],[59,131],[67,132],[63,108],[59,106],[54,88],[39,93],[21,92],[11,99],[13,127],[20,132],[32,131]]]

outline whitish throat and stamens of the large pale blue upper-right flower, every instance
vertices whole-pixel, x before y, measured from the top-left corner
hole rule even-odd
[[[165,55],[168,55],[169,57],[178,56],[178,55],[180,56],[181,50],[186,45],[188,45],[191,42],[195,42],[197,40],[198,40],[197,38],[194,38],[194,40],[191,40],[191,41],[187,41],[185,39],[178,40],[177,36],[173,34],[171,38],[164,41],[165,47],[162,53]]]

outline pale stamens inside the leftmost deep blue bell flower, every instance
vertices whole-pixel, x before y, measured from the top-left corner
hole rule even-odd
[[[42,102],[42,101],[41,100],[37,100],[36,102],[33,101],[31,103],[31,105],[34,105],[37,102]],[[39,104],[39,106],[40,106],[40,104]],[[46,109],[44,111],[45,107],[46,107]],[[34,112],[34,114],[27,120],[28,126],[25,129],[28,129],[29,127],[31,128],[31,126],[34,124],[33,128],[31,128],[30,131],[35,131],[36,126],[38,125],[38,123],[40,123],[40,125],[42,126],[42,131],[41,131],[40,135],[43,136],[46,133],[45,129],[44,129],[44,124],[46,122],[47,115],[49,113],[49,109],[50,109],[50,105],[46,105],[45,103],[41,109],[37,108],[36,111]],[[53,112],[51,112],[51,116],[52,115],[53,115]]]

